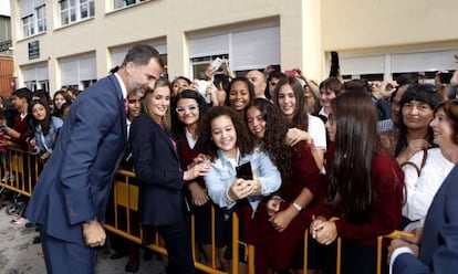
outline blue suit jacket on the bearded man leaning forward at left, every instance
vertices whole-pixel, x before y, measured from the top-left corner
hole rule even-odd
[[[72,104],[25,217],[54,238],[83,243],[83,222],[103,222],[114,173],[127,144],[123,94],[115,75]]]

